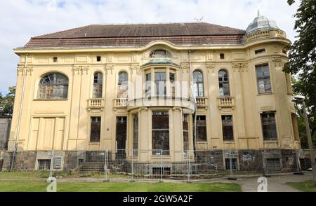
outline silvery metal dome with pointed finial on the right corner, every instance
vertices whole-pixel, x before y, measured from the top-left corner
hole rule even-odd
[[[275,20],[269,20],[258,11],[258,17],[249,24],[246,32],[251,33],[258,29],[279,29],[279,27],[277,27]]]

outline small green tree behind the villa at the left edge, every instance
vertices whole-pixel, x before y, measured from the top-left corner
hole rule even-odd
[[[15,86],[8,88],[8,94],[3,96],[0,92],[0,116],[12,116],[15,97]]]

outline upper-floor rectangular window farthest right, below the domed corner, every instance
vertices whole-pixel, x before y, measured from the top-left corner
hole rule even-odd
[[[259,94],[271,93],[270,71],[268,64],[256,66]]]

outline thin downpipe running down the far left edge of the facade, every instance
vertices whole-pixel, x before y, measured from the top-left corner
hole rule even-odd
[[[15,143],[14,143],[14,151],[13,151],[13,157],[11,162],[11,168],[10,170],[13,170],[13,164],[15,160],[16,152],[18,151],[18,137],[20,136],[20,124],[22,119],[22,108],[23,108],[23,99],[24,99],[24,93],[25,93],[25,78],[27,74],[27,57],[29,56],[29,53],[25,55],[25,71],[23,73],[23,83],[22,83],[22,94],[21,94],[21,101],[20,101],[20,111],[19,111],[19,119],[18,119],[18,128],[16,130],[16,137],[15,137]]]

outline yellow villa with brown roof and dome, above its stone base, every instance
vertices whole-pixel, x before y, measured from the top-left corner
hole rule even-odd
[[[289,39],[258,15],[89,25],[33,37],[20,56],[9,151],[299,149]],[[16,146],[16,147],[15,147]]]

